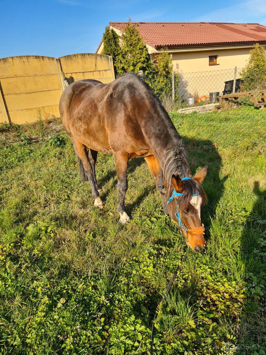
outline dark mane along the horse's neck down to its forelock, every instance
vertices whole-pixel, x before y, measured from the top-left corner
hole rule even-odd
[[[165,108],[162,106],[159,98],[155,95],[148,83],[134,73],[125,73],[119,77],[118,80],[123,80],[125,83],[134,82],[139,91],[144,91],[146,97],[148,96],[151,101],[151,108],[154,113],[154,118],[159,118],[160,121],[163,122],[165,129],[168,133],[170,133],[170,142],[168,144],[169,149],[166,153],[164,166],[161,167],[164,173],[164,180],[168,195],[170,195],[172,175],[178,175],[180,179],[183,179],[185,176],[192,176],[186,159],[187,151],[185,149],[184,142],[179,136],[176,127],[174,126]],[[178,198],[178,204],[180,203],[181,208],[185,208],[188,205],[191,200],[191,196],[195,193],[205,196],[201,185],[196,180],[185,180],[184,186],[185,196]]]

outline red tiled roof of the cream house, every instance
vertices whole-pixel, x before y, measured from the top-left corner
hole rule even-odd
[[[132,22],[151,47],[266,42],[266,26],[259,23]],[[110,22],[123,32],[126,22]]]

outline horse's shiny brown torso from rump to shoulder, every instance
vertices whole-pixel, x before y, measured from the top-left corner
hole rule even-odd
[[[146,138],[154,125],[155,105],[151,89],[127,73],[109,84],[72,83],[63,92],[59,109],[72,140],[100,152],[124,150],[143,155],[149,151]]]

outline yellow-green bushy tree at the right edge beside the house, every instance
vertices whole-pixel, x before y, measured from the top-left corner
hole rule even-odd
[[[256,43],[249,52],[249,61],[240,73],[246,91],[266,88],[265,50],[265,47]]]

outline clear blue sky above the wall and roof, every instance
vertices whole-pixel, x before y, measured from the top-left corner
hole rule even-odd
[[[0,58],[94,53],[110,21],[258,22],[265,0],[0,0]]]

